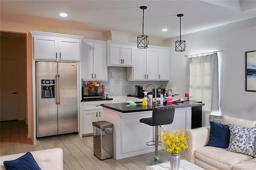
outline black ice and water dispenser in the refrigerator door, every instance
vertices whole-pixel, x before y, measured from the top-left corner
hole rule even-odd
[[[41,93],[42,99],[45,98],[54,98],[54,89],[55,89],[55,80],[41,80]]]

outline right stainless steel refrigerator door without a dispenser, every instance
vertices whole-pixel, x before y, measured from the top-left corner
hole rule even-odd
[[[58,134],[78,132],[78,66],[58,63]]]

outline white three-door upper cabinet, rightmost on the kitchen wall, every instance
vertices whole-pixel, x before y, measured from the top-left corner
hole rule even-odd
[[[127,68],[127,80],[169,80],[169,48],[134,48],[133,67]]]

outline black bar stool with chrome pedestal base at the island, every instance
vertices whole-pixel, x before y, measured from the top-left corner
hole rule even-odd
[[[148,144],[149,142],[146,143],[148,146],[155,145],[155,157],[146,159],[146,162],[150,165],[168,161],[167,159],[158,156],[158,126],[171,124],[174,119],[174,111],[175,106],[154,107],[152,117],[140,119],[140,123],[155,127],[155,140],[149,141],[154,142],[155,144]]]

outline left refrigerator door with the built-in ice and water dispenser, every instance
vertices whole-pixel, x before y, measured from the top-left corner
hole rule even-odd
[[[44,86],[42,80],[54,80],[57,74],[56,62],[36,63],[36,136],[50,136],[58,134],[58,105],[56,105],[56,84],[54,85],[54,96],[52,98],[44,98]],[[56,80],[55,80],[56,82]]]

